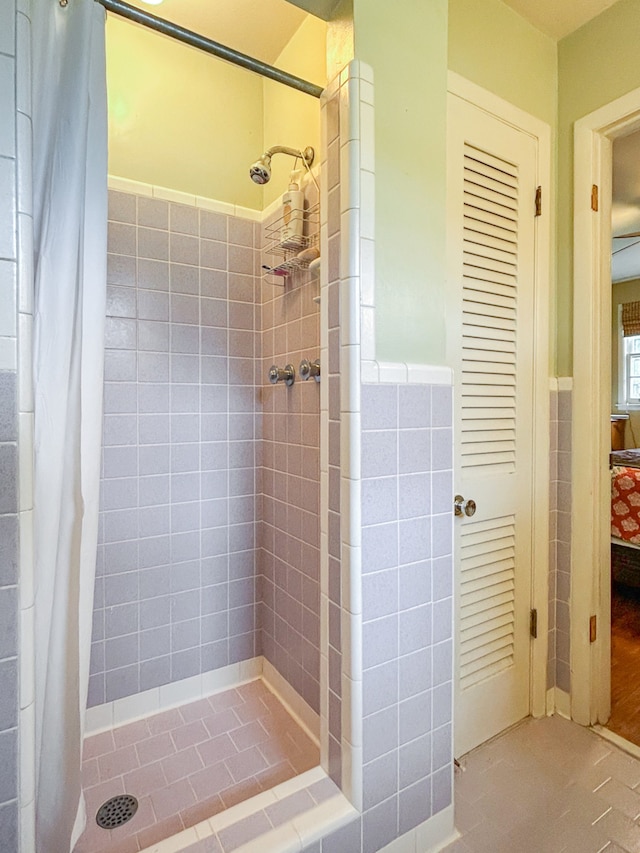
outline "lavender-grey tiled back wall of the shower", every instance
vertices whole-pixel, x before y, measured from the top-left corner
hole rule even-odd
[[[260,653],[259,227],[114,191],[109,220],[90,705]]]

